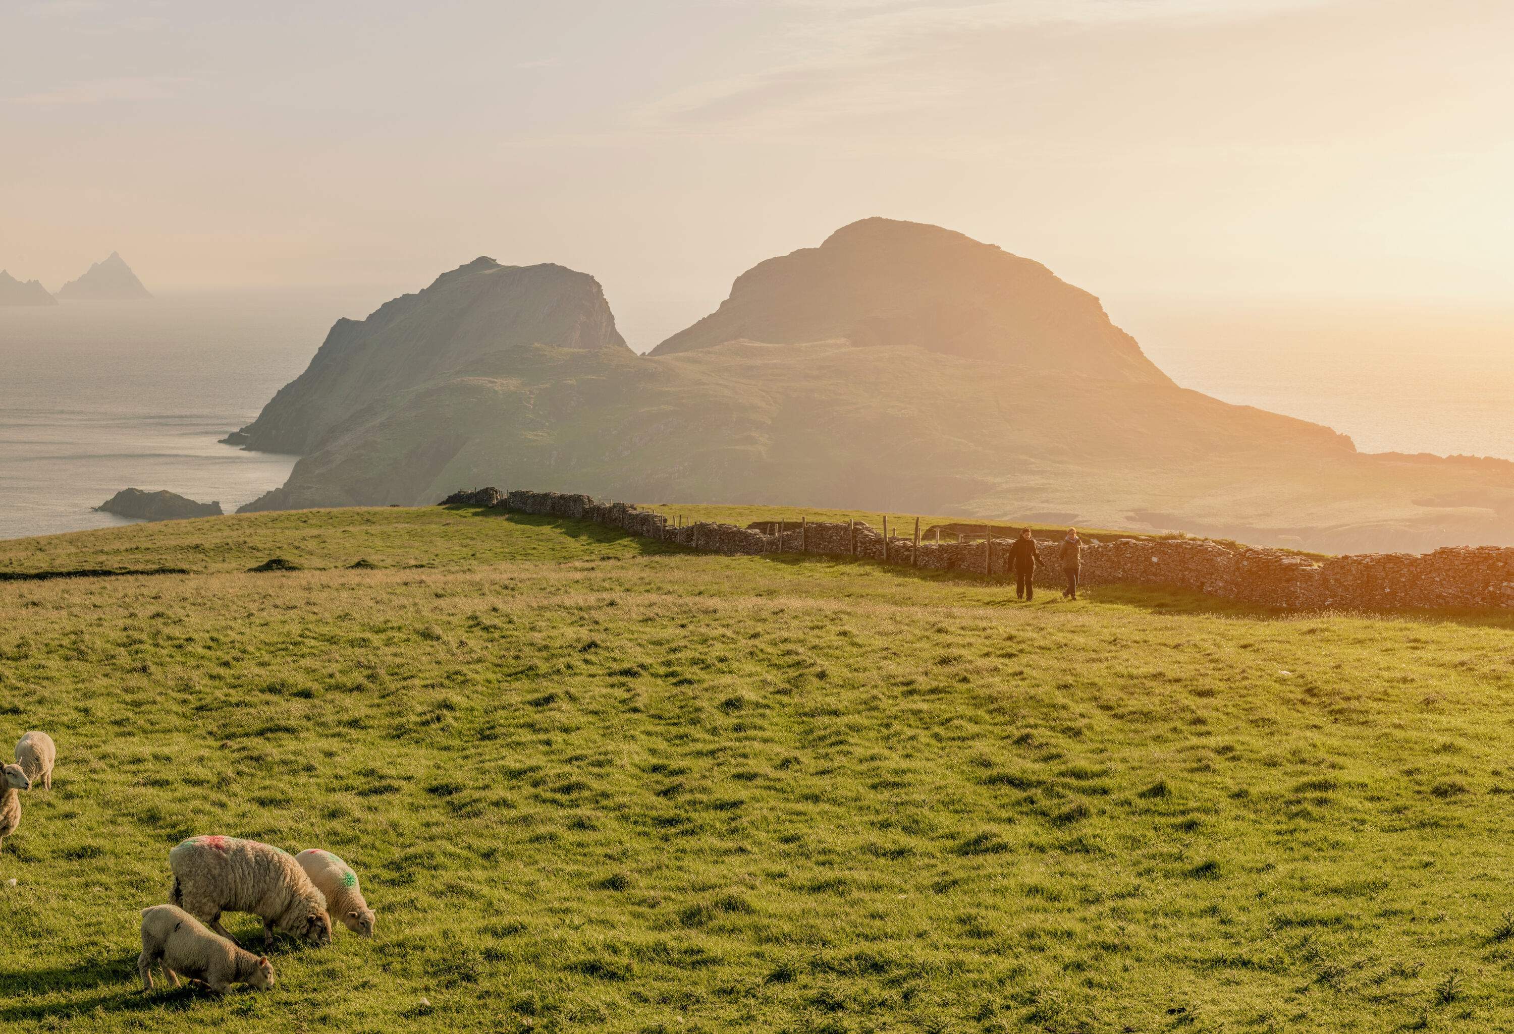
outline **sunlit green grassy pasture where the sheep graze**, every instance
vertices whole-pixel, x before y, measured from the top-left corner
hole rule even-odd
[[[195,574],[0,583],[0,745],[59,745],[11,1031],[1514,1029],[1508,621],[439,507],[0,542],[80,566]],[[138,995],[197,833],[336,851],[377,939]]]

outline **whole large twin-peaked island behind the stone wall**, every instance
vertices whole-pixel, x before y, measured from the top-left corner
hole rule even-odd
[[[1514,545],[1514,463],[1358,453],[1187,391],[1039,262],[883,218],[748,269],[648,356],[593,277],[475,259],[339,319],[227,441],[301,454],[244,512],[501,484],[1329,553]]]

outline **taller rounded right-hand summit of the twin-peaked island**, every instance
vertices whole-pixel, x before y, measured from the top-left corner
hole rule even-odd
[[[880,218],[752,266],[718,310],[651,354],[827,339],[1170,383],[1098,298],[1039,262],[939,226]]]

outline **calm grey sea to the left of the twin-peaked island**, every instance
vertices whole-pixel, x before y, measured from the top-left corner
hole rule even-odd
[[[394,292],[197,292],[0,309],[0,539],[129,524],[124,487],[218,501],[279,487],[294,456],[218,444],[297,377],[338,316]]]

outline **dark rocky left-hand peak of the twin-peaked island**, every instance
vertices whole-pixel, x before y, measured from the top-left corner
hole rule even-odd
[[[310,453],[371,406],[391,406],[409,391],[466,375],[478,363],[491,366],[498,353],[531,344],[634,354],[593,277],[480,257],[366,319],[338,319],[310,366],[224,441],[265,453]]]

